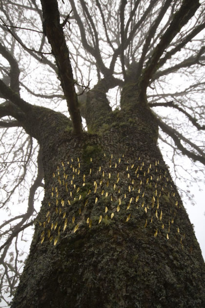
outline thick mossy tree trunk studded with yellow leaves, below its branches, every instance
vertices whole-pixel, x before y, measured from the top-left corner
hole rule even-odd
[[[103,126],[90,119],[95,134],[76,136],[43,109],[35,133],[45,197],[12,308],[204,307],[201,250],[156,145],[155,117],[131,88],[121,111],[103,110]],[[88,107],[92,99],[101,117],[92,95]]]

